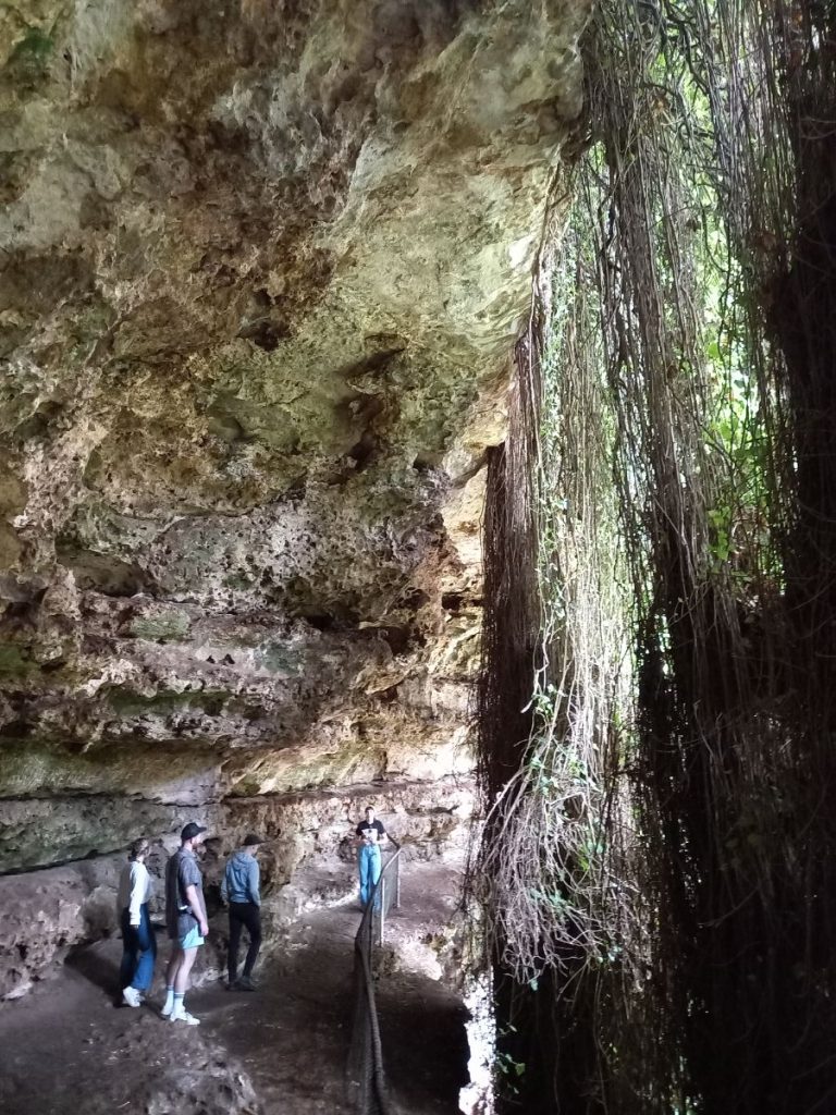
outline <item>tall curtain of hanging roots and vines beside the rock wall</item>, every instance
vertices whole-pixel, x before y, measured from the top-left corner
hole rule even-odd
[[[508,1109],[825,1113],[836,6],[604,0],[586,64],[570,233],[489,463],[482,893],[507,980],[500,1084]],[[603,415],[609,481],[600,457],[544,467],[561,382],[564,421]],[[565,395],[579,384],[585,403]],[[594,500],[560,525],[544,486],[570,482]],[[592,516],[613,495],[616,520]],[[592,581],[570,521],[618,539]],[[579,584],[626,632],[609,687],[586,668],[620,669],[579,620]]]

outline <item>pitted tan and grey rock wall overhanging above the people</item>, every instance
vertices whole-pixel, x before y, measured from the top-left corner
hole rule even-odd
[[[286,883],[318,787],[441,808],[470,767],[484,456],[587,16],[0,10],[0,996],[137,833],[278,802]]]

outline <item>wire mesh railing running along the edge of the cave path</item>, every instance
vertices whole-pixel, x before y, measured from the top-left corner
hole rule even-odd
[[[375,1001],[372,954],[375,937],[383,941],[383,927],[389,910],[400,905],[400,853],[397,841],[382,865],[354,937],[354,1024],[348,1063],[348,1090],[358,1115],[395,1115],[383,1073],[380,1024]],[[377,934],[375,925],[377,922]]]

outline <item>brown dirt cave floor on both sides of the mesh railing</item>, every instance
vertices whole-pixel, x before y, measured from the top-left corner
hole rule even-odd
[[[459,873],[410,864],[402,908],[379,958],[378,1009],[399,1115],[456,1115],[467,1083],[466,1011],[437,977],[428,942],[449,923]],[[260,966],[260,990],[213,981],[191,991],[200,1027],[158,1015],[152,1001],[116,1008],[120,942],[76,953],[55,979],[0,1007],[0,1111],[4,1115],[340,1115],[351,1111],[346,1066],[359,905],[311,911]],[[435,970],[434,970],[435,968]],[[250,1086],[252,1085],[252,1087]]]

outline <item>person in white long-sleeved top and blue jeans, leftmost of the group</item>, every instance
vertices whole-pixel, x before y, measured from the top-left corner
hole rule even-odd
[[[121,1001],[126,1007],[138,1007],[154,979],[157,942],[150,928],[148,901],[154,893],[145,857],[150,844],[145,837],[130,845],[128,862],[119,878],[116,900],[117,917],[121,927],[123,956],[119,982]]]

